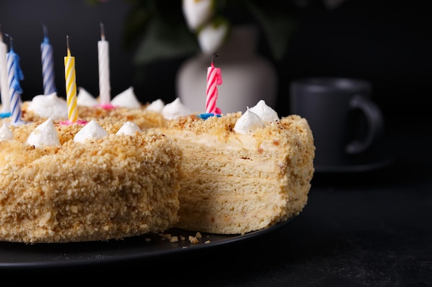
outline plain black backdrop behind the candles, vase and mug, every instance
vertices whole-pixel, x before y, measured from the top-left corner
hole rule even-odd
[[[429,120],[432,67],[431,17],[427,1],[346,0],[334,10],[320,1],[295,11],[299,25],[282,61],[274,61],[262,43],[259,52],[273,61],[279,73],[279,116],[288,114],[288,87],[304,76],[349,76],[373,84],[373,100],[384,112],[389,128],[408,127],[412,119]],[[175,74],[185,59],[158,61],[137,70],[134,48],[126,49],[124,19],[128,2],[110,0],[89,6],[84,0],[2,0],[3,34],[14,38],[25,79],[23,100],[41,94],[41,23],[54,48],[56,84],[64,95],[63,56],[66,34],[76,57],[77,85],[97,95],[97,41],[104,21],[110,42],[112,96],[130,86],[142,102],[174,100]],[[5,39],[8,43],[8,39]],[[143,72],[144,71],[144,72]],[[65,96],[66,97],[66,96]]]

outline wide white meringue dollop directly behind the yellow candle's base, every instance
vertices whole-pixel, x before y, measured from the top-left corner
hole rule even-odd
[[[28,102],[28,109],[43,118],[52,118],[53,120],[68,118],[68,103],[64,98],[58,97],[56,92],[49,95],[34,96]]]

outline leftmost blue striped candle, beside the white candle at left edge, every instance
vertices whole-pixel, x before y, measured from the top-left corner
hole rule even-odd
[[[8,36],[8,35],[6,35]],[[12,125],[21,125],[21,93],[23,92],[19,81],[24,76],[19,67],[19,56],[14,52],[12,37],[10,38],[10,50],[6,56],[8,66],[8,80],[9,80],[9,96],[10,96],[10,123]]]

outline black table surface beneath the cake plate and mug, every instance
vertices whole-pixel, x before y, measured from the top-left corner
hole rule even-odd
[[[388,136],[393,162],[315,173],[294,220],[247,240],[95,266],[0,270],[3,282],[98,286],[432,286],[432,156],[427,129]]]

